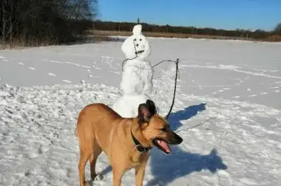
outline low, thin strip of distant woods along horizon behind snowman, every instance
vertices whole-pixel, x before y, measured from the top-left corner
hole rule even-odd
[[[132,31],[135,24],[140,22],[112,22],[112,21],[95,21],[94,28],[96,30],[108,30],[108,31]],[[264,39],[272,35],[281,35],[281,23],[276,26],[273,31],[264,31],[257,29],[251,30],[223,30],[214,28],[196,28],[193,26],[170,26],[170,25],[155,25],[155,24],[142,24],[143,32],[160,32],[160,33],[182,33],[190,35],[208,35],[208,36],[226,36],[226,37],[247,37],[253,39]]]

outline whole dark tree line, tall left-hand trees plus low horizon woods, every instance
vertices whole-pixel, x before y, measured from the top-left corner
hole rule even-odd
[[[279,36],[281,23],[272,31],[223,30],[136,22],[95,20],[98,0],[0,0],[0,48],[11,45],[50,45],[76,42],[90,30],[128,31],[141,23],[143,32],[243,37],[262,40]],[[276,37],[277,38],[277,37]]]

